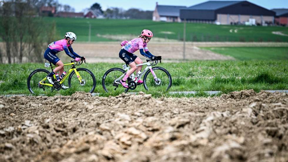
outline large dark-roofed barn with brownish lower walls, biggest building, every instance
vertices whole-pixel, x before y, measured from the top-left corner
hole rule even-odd
[[[207,1],[180,9],[180,19],[216,24],[273,24],[275,12],[248,1]]]

